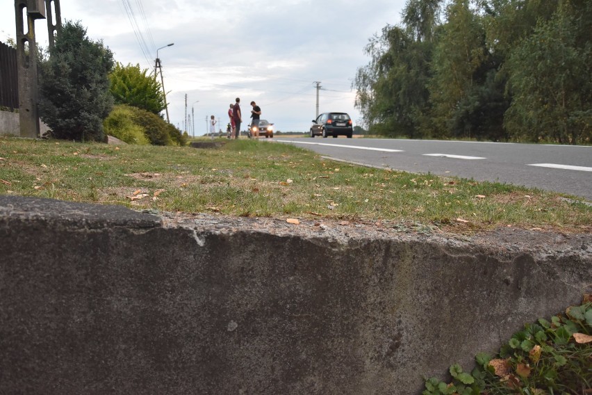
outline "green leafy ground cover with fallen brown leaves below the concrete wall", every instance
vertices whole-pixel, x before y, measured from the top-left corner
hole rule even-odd
[[[429,378],[424,395],[584,394],[592,389],[592,296],[551,321],[513,334],[495,358],[475,357],[471,373],[450,367],[451,382]]]

